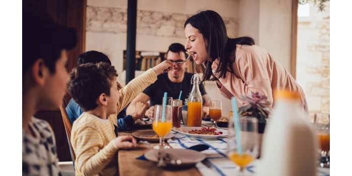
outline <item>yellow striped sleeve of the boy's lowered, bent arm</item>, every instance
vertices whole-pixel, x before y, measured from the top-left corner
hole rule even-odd
[[[85,127],[74,134],[71,143],[76,154],[76,169],[83,175],[98,174],[118,150],[114,140],[104,146],[103,136],[92,127]]]

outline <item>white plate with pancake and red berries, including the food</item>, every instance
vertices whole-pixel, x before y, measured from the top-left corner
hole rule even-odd
[[[228,135],[227,130],[213,127],[181,127],[175,129],[175,131],[186,136],[207,139],[217,139]]]

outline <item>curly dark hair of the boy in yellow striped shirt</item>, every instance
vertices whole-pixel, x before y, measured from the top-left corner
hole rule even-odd
[[[112,82],[117,76],[115,67],[108,63],[78,65],[70,73],[67,92],[84,111],[93,110],[98,107],[97,99],[101,94],[110,96]]]

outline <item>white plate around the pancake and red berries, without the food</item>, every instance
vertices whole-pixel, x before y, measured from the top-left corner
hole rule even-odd
[[[210,135],[210,134],[190,134],[188,133],[191,130],[200,130],[202,127],[181,127],[181,128],[177,128],[174,129],[175,131],[182,133],[186,136],[190,136],[190,137],[194,137],[194,138],[204,138],[204,139],[217,139],[217,138],[221,138],[221,137],[226,137],[228,135],[228,131],[225,129],[220,129],[217,128],[216,131],[219,132],[221,131],[222,134],[220,135]]]

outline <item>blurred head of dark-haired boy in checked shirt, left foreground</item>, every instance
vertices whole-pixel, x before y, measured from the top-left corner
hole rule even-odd
[[[37,110],[56,109],[69,80],[66,51],[75,47],[76,32],[29,8],[23,9],[22,19],[23,96],[34,96]]]

